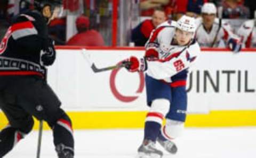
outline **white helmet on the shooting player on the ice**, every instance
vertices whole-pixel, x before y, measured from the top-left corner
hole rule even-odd
[[[195,32],[196,31],[196,23],[195,18],[187,15],[183,15],[177,21],[177,28],[183,31]]]

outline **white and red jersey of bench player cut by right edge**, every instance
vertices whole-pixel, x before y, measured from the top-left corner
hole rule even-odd
[[[245,21],[238,29],[237,34],[241,37],[243,48],[256,47],[256,27],[254,20]]]

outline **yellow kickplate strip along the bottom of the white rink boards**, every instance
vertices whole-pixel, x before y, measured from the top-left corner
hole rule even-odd
[[[143,128],[147,111],[72,111],[68,112],[74,129]],[[0,112],[0,129],[7,120]],[[186,127],[256,126],[256,110],[223,110],[189,114]],[[34,129],[38,129],[35,121]],[[44,129],[50,129],[44,122]]]

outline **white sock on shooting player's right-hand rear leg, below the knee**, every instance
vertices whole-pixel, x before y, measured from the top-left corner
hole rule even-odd
[[[162,134],[167,139],[179,137],[184,129],[184,122],[166,119],[166,125],[162,128]]]

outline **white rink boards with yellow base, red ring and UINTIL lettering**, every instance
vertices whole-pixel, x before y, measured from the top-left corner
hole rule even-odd
[[[85,54],[97,67],[115,65],[143,49],[59,48],[49,68],[49,84],[70,112],[75,129],[141,128],[146,116],[144,74],[125,69],[93,73]],[[187,81],[188,127],[256,126],[255,50],[232,54],[204,49]],[[3,115],[0,115],[0,120]],[[0,122],[0,128],[6,121]]]

